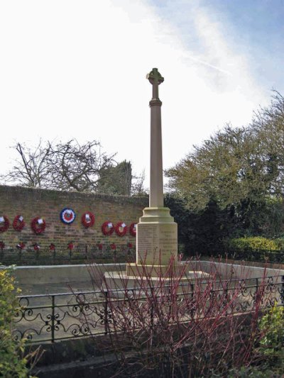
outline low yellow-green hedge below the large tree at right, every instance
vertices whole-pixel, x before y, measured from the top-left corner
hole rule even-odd
[[[263,238],[262,236],[251,236],[249,238],[234,238],[229,240],[230,250],[255,251],[255,250],[280,250],[275,240]]]

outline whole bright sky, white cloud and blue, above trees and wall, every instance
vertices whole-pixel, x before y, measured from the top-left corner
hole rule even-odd
[[[98,140],[148,187],[146,74],[165,79],[167,169],[284,94],[283,19],[283,0],[1,0],[0,174],[17,142]]]

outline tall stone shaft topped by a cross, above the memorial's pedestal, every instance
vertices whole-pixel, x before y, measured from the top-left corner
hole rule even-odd
[[[153,86],[153,98],[151,107],[151,157],[150,157],[150,199],[149,207],[163,207],[163,154],[162,154],[162,130],[158,86],[164,78],[157,68],[147,74],[146,78]]]

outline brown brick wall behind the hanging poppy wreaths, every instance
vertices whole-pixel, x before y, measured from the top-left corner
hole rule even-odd
[[[70,191],[53,191],[46,189],[30,189],[23,187],[0,186],[0,216],[7,216],[10,221],[9,230],[0,233],[0,240],[5,249],[16,248],[19,242],[26,248],[33,248],[38,243],[40,248],[48,248],[54,243],[57,250],[66,250],[72,241],[76,245],[96,245],[97,243],[135,244],[135,238],[129,231],[119,237],[114,232],[111,236],[102,233],[102,223],[111,221],[116,225],[123,221],[129,226],[138,222],[142,210],[148,206],[145,197],[107,196],[102,194],[82,194]],[[60,211],[70,207],[76,213],[75,221],[66,225],[60,221]],[[86,211],[94,213],[95,223],[84,228],[81,223],[82,214]],[[18,232],[13,229],[13,219],[21,215],[26,226]],[[31,229],[31,220],[35,217],[45,220],[46,228],[42,235],[36,235]]]

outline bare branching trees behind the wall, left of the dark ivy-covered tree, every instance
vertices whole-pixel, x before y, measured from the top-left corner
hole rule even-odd
[[[95,191],[100,172],[114,165],[114,155],[102,152],[99,142],[82,145],[77,140],[57,144],[38,143],[35,150],[17,143],[19,156],[10,172],[1,179],[24,187]]]

